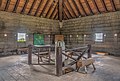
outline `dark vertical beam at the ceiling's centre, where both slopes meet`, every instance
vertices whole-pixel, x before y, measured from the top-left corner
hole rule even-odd
[[[63,20],[63,0],[58,1],[58,19],[60,22]]]

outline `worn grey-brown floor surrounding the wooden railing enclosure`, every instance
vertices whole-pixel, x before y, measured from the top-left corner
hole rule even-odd
[[[94,73],[71,72],[57,77],[55,66],[29,66],[27,55],[0,58],[0,81],[120,81],[120,57],[93,56],[96,60]]]

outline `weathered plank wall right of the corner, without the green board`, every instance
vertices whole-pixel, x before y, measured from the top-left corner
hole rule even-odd
[[[95,33],[106,35],[102,43],[95,42]],[[92,44],[93,51],[120,55],[120,11],[66,20],[62,34],[67,45]]]

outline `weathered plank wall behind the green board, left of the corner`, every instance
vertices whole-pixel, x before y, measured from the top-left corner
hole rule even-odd
[[[59,34],[59,21],[0,11],[0,48],[33,44],[33,33],[37,32],[45,34],[45,44],[51,44],[53,35]],[[17,33],[28,35],[25,44],[17,43]]]

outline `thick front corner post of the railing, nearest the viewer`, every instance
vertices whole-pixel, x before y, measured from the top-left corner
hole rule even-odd
[[[56,47],[56,75],[62,75],[62,48]]]

